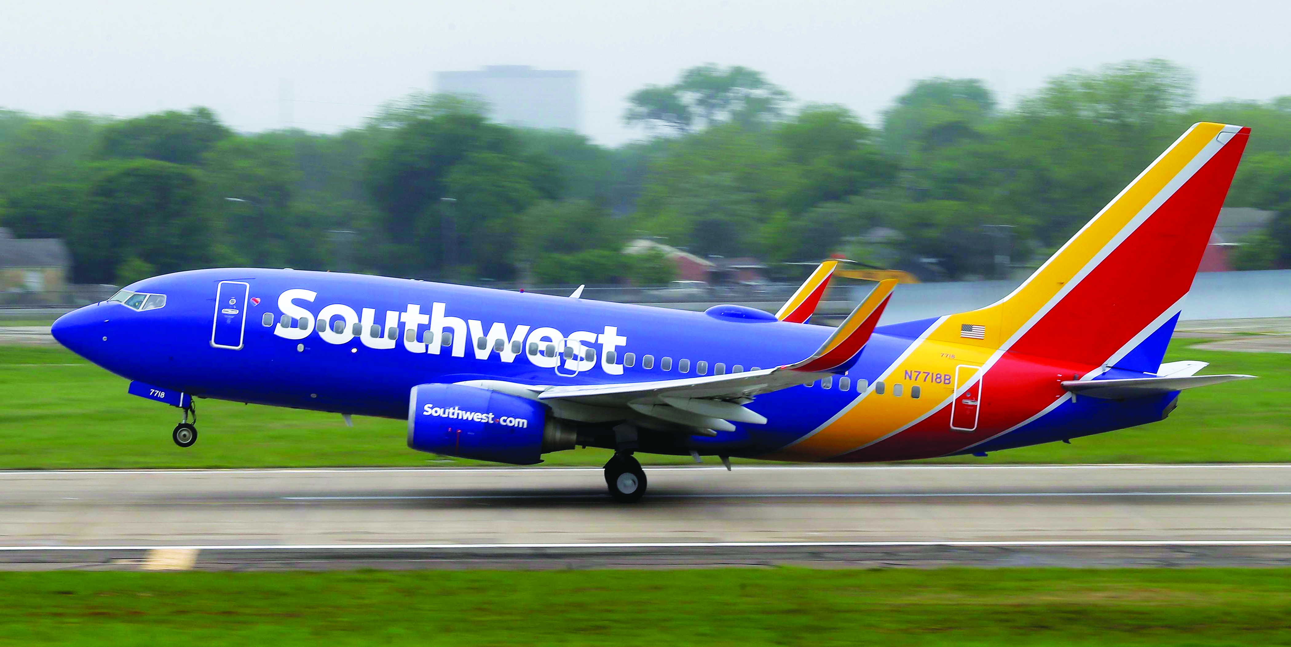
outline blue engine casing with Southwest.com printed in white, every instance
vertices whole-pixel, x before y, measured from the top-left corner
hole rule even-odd
[[[462,384],[418,384],[408,402],[408,446],[516,465],[571,450],[577,433],[537,400]]]

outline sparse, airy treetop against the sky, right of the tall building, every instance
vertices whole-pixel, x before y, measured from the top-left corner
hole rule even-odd
[[[686,70],[673,85],[648,85],[627,102],[625,122],[689,133],[722,122],[755,128],[775,121],[789,93],[755,70],[709,63]]]

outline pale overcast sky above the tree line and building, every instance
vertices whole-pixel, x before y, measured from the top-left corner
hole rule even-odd
[[[871,124],[915,79],[982,79],[1007,104],[1131,58],[1189,67],[1203,102],[1265,101],[1291,94],[1288,26],[1285,0],[0,0],[0,107],[208,106],[238,130],[334,131],[435,71],[529,64],[581,71],[582,131],[617,144],[640,135],[621,121],[627,94],[705,62]]]

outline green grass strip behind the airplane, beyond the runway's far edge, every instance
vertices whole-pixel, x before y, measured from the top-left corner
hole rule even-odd
[[[1291,461],[1291,354],[1184,348],[1170,360],[1211,362],[1207,372],[1259,380],[1183,394],[1171,418],[1135,429],[993,452],[955,463]],[[71,366],[62,366],[68,363]],[[58,347],[0,347],[0,469],[137,467],[453,465],[474,461],[411,451],[405,423],[290,409],[199,402],[198,445],[170,442],[179,411],[125,393],[127,380]],[[609,452],[546,455],[547,464],[600,465]],[[648,464],[689,458],[642,456]],[[713,460],[713,459],[709,459]]]

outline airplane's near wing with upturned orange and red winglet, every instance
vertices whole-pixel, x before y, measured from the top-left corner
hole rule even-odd
[[[551,387],[537,397],[551,405],[568,402],[609,410],[627,409],[639,414],[629,418],[639,420],[644,416],[695,429],[695,433],[735,430],[731,420],[764,424],[766,418],[744,405],[763,393],[809,384],[822,374],[844,372],[869,342],[895,286],[896,280],[880,281],[811,357],[788,366],[675,380]],[[559,407],[556,414],[560,415]]]

